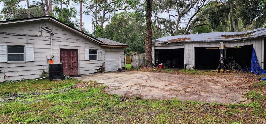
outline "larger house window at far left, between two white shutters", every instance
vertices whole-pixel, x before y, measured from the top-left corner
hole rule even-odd
[[[7,46],[7,61],[24,61],[24,46]]]

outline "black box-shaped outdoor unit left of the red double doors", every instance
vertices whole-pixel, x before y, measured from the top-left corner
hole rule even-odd
[[[49,80],[63,79],[63,63],[49,64]]]

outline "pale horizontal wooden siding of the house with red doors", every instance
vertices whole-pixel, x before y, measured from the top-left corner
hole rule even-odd
[[[2,75],[10,76],[11,80],[20,80],[21,78],[31,79],[39,78],[41,70],[48,71],[47,55],[50,50],[50,34],[40,32],[40,25],[45,25],[43,20],[32,22],[22,22],[16,24],[1,25],[1,32],[42,35],[38,37],[12,36],[1,34],[0,44],[32,46],[34,48],[34,61],[26,63],[0,63],[0,81]],[[96,69],[105,62],[105,51],[121,51],[121,67],[124,67],[124,48],[120,47],[102,47],[99,44],[72,32],[56,23],[46,21],[47,27],[53,27],[52,53],[54,63],[60,62],[60,49],[78,49],[79,53],[79,74],[88,74],[96,72]],[[102,57],[99,61],[85,61],[84,49],[100,49]],[[2,76],[2,77],[1,77]]]

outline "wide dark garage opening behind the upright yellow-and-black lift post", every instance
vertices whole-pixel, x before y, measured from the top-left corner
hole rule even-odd
[[[229,70],[249,70],[253,45],[225,47],[224,64]],[[220,64],[220,49],[195,47],[195,69],[217,69]]]

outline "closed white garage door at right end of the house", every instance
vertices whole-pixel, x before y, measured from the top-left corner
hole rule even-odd
[[[105,51],[105,72],[117,71],[120,61],[120,51]]]

